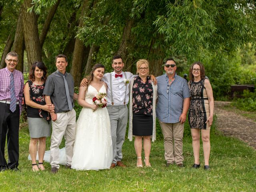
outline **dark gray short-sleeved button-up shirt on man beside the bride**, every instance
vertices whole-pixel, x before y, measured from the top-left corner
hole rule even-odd
[[[66,72],[65,75],[68,83],[70,100],[72,102],[72,106],[74,107],[74,80],[71,74]],[[55,113],[61,113],[69,110],[63,74],[58,72],[58,70],[50,74],[50,76],[48,76],[46,79],[43,94],[51,97],[52,103],[55,106]]]

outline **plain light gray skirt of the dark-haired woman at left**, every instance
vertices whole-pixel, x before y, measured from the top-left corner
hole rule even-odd
[[[30,138],[49,137],[51,131],[51,122],[48,124],[44,118],[28,117],[28,129]]]

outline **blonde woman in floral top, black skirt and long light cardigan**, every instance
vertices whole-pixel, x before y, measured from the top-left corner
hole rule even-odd
[[[137,167],[142,167],[142,139],[145,166],[150,167],[151,140],[156,139],[156,97],[157,87],[151,82],[149,64],[141,59],[136,64],[139,76],[130,82],[130,122],[128,138],[135,136],[134,148],[137,154]]]

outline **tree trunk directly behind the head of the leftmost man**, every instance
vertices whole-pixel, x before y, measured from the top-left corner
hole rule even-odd
[[[24,49],[25,49],[25,41],[24,41],[24,33],[23,33],[23,24],[22,24],[22,8],[20,8],[20,14],[16,26],[14,43],[12,46],[12,50],[15,51],[19,56],[19,63],[16,66],[16,69],[24,72]]]

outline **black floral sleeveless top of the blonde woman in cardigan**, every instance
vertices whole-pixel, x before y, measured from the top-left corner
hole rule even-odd
[[[143,82],[140,76],[134,77],[132,86],[132,112],[144,115],[153,114],[153,88],[149,76]]]

